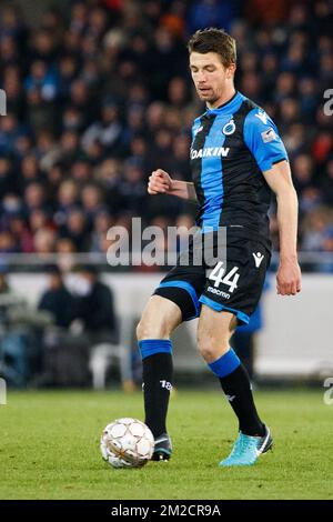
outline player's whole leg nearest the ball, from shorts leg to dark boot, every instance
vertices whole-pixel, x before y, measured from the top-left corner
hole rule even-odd
[[[145,422],[155,438],[155,460],[168,459],[171,454],[165,425],[172,389],[170,335],[182,321],[199,317],[199,297],[205,284],[203,267],[192,261],[193,248],[190,242],[189,250],[180,254],[178,264],[155,289],[138,325],[143,365]],[[162,450],[165,450],[164,454]]]

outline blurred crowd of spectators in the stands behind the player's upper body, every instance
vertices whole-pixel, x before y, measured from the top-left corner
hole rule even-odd
[[[333,251],[332,3],[85,0],[32,27],[0,7],[0,253],[100,252],[132,217],[163,228],[195,209],[148,197],[151,171],[191,180],[186,39],[238,41],[236,87],[275,120],[300,198],[300,249]],[[54,6],[57,6],[54,3]],[[327,102],[327,103],[326,103]],[[327,110],[324,110],[326,103]],[[276,218],[272,237],[279,249]]]

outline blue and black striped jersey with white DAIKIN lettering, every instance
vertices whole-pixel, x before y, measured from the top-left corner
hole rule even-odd
[[[192,135],[198,225],[203,232],[240,227],[268,237],[271,190],[262,172],[287,160],[271,118],[236,92],[225,104],[196,118]]]

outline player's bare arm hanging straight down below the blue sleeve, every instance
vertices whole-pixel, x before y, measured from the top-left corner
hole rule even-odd
[[[295,295],[301,291],[301,269],[297,262],[297,195],[286,160],[272,165],[263,175],[276,195],[280,233],[280,264],[276,289],[281,295]]]

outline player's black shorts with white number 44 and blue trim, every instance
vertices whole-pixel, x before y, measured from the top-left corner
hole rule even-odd
[[[242,228],[238,231],[228,229],[225,255],[219,258],[221,249],[218,250],[218,244],[214,235],[209,247],[202,245],[202,261],[198,262],[198,238],[194,237],[154,294],[178,304],[183,321],[199,317],[203,303],[219,312],[233,312],[240,324],[248,324],[259,303],[270,265],[270,241]],[[213,261],[208,264],[211,259]]]

